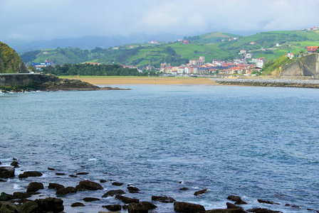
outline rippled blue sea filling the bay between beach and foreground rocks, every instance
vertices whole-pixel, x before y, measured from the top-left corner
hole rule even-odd
[[[206,210],[226,208],[229,195],[248,202],[244,209],[319,210],[319,89],[119,87],[132,90],[0,94],[1,166],[12,158],[21,166],[16,178],[0,182],[1,191],[25,192],[36,181],[45,189],[31,199],[56,197],[49,182],[75,187],[80,180],[103,179],[104,190],[61,197],[65,212],[123,204],[101,198],[108,190],[149,202],[152,195],[167,195]],[[43,176],[19,180],[27,170]],[[79,172],[89,174],[68,176]],[[128,193],[127,185],[140,193]],[[70,207],[73,202],[85,207]],[[174,212],[173,204],[154,203],[155,212]]]

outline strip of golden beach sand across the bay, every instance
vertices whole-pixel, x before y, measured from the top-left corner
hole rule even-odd
[[[66,77],[68,79],[81,80],[90,84],[121,85],[121,84],[171,84],[171,85],[220,85],[213,80],[204,77]]]

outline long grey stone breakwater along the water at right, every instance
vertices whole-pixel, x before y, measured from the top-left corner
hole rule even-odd
[[[215,81],[219,84],[241,86],[319,88],[319,80],[218,79]]]

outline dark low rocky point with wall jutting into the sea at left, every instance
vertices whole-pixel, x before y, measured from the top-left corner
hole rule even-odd
[[[0,92],[31,92],[31,91],[58,91],[58,90],[130,90],[118,87],[98,87],[81,80],[68,80],[55,75],[12,75],[1,76],[6,84],[0,87]]]

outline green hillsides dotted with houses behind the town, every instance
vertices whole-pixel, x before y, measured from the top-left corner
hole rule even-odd
[[[184,39],[189,43],[178,41],[160,44],[135,43],[122,45],[118,50],[57,48],[23,53],[21,58],[23,62],[51,60],[57,65],[100,62],[160,67],[162,62],[169,62],[171,65],[186,64],[188,60],[198,59],[201,55],[205,56],[206,62],[213,59],[233,60],[242,58],[243,55],[239,55],[239,51],[246,50],[253,58],[263,57],[271,60],[285,55],[288,51],[298,54],[300,51],[305,52],[308,45],[319,45],[319,31],[271,31],[248,36],[214,32],[184,37]]]

